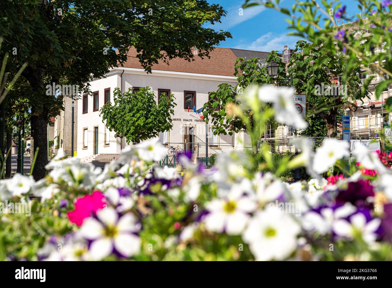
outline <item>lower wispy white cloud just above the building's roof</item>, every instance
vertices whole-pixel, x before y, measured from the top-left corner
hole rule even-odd
[[[261,35],[258,39],[250,44],[240,44],[236,48],[265,51],[269,52],[272,50],[283,50],[283,46],[287,45],[287,48],[294,49],[296,42],[299,40],[296,36],[288,36],[286,34],[275,34],[268,32],[267,34]]]

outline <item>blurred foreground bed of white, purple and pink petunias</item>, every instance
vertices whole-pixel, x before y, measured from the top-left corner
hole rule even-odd
[[[254,111],[251,137],[272,116],[306,126],[293,93],[249,87],[230,109],[245,123],[241,111]],[[45,179],[0,180],[2,202],[31,205],[30,216],[1,215],[0,259],[392,260],[390,157],[359,146],[349,162],[348,143],[327,139],[316,151],[305,138],[296,144],[299,155],[276,159],[262,146],[258,169],[246,151],[218,155],[209,170],[184,153],[183,173],[156,165],[166,153],[158,139],[124,149],[103,171],[60,160],[60,151]],[[312,178],[279,178],[296,167]]]

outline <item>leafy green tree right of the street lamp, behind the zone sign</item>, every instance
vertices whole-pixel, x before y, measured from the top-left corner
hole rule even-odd
[[[307,97],[310,126],[303,133],[311,134],[306,135],[325,136],[321,133],[325,130],[329,137],[336,137],[338,117],[341,120],[344,111],[342,106],[355,110],[357,106],[350,99],[362,99],[367,95],[367,89],[362,93],[359,88],[359,66],[350,71],[346,82],[338,83],[346,71],[343,57],[341,53],[331,53],[322,42],[318,46],[303,40],[296,44],[288,71],[296,93]],[[325,129],[318,117],[325,122]]]

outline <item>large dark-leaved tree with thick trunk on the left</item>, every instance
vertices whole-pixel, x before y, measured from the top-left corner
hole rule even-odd
[[[44,6],[36,0],[3,1],[0,35],[7,38],[5,50],[13,52],[15,66],[29,62],[23,75],[33,90],[28,95],[33,103],[31,133],[34,149],[40,151],[34,179],[45,176],[46,125],[56,114],[57,99],[45,94],[47,85],[65,81],[91,93],[86,83],[121,66],[130,46],[136,47],[147,71],[158,60],[208,57],[214,45],[231,36],[203,24],[220,22],[225,14],[220,5],[205,0],[55,0]]]

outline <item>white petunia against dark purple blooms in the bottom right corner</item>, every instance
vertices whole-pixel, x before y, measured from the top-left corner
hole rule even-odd
[[[350,217],[350,222],[344,219],[335,221],[332,224],[332,230],[336,235],[353,239],[356,235],[361,235],[362,239],[368,244],[377,239],[376,230],[381,224],[381,219],[375,218],[367,222],[365,215],[356,213]]]

